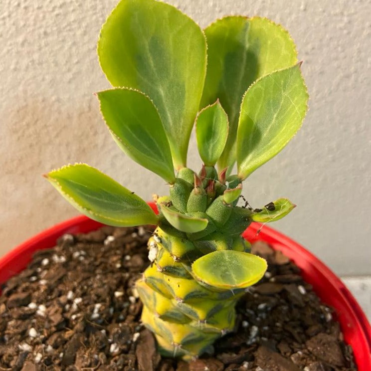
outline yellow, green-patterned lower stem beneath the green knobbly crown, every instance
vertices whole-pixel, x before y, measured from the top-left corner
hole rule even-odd
[[[149,240],[150,254],[156,253],[156,260],[137,281],[137,289],[144,306],[142,322],[155,334],[162,355],[197,357],[233,330],[234,307],[244,290],[220,290],[197,281],[192,277],[191,263],[204,255],[206,248],[213,251],[212,245],[214,249],[248,248],[241,237],[235,240],[230,246],[227,240],[197,243],[160,227]]]

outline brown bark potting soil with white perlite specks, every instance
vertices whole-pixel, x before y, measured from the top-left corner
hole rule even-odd
[[[140,323],[134,282],[148,265],[150,228],[62,236],[9,279],[0,296],[0,371],[354,371],[331,308],[300,270],[258,242],[264,278],[237,305],[235,333],[189,364],[162,359]]]

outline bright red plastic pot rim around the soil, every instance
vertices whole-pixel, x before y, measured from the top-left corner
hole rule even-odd
[[[154,204],[151,206],[156,208]],[[101,225],[86,216],[78,216],[30,238],[0,258],[0,285],[24,269],[36,250],[55,246],[62,234],[89,232]],[[301,268],[303,278],[313,286],[323,302],[335,308],[345,341],[353,348],[358,370],[371,371],[371,327],[349,290],[325,264],[304,247],[266,226],[257,234],[260,226],[259,223],[252,223],[243,236],[252,242],[268,242]]]

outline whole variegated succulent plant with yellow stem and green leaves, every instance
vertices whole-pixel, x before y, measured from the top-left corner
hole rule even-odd
[[[98,55],[113,85],[97,93],[113,139],[170,194],[157,197],[156,214],[88,165],[46,177],[92,219],[157,226],[151,265],[136,283],[142,321],[163,355],[197,357],[233,330],[237,300],[266,270],[241,232],[295,207],[286,198],[261,209],[237,205],[242,182],[286,146],[306,114],[295,44],[266,18],[228,16],[202,31],[169,4],[122,0],[102,27]],[[194,123],[198,173],[186,167]]]

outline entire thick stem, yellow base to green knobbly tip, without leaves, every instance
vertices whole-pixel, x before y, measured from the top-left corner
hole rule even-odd
[[[223,196],[225,185],[219,183],[220,189],[215,191],[215,187],[210,186],[212,182],[202,185],[199,178],[195,178],[193,189],[182,179],[177,182],[171,191],[172,198],[164,197],[158,204],[161,206],[166,201],[174,210],[179,210],[183,202],[185,210],[182,211],[189,214],[192,210],[207,218],[208,225],[203,231],[185,233],[163,218],[148,242],[152,264],[137,281],[137,289],[144,306],[142,322],[155,334],[161,354],[190,359],[212,350],[217,338],[233,330],[235,304],[244,288],[249,286],[226,284],[221,287],[217,279],[213,285],[213,272],[208,272],[211,279],[203,279],[203,274],[200,278],[194,264],[201,257],[221,250],[250,255],[245,254],[249,251],[249,244],[240,236],[250,219],[249,210],[233,206],[240,188],[232,197],[233,202],[228,204]],[[212,197],[207,199],[207,190],[211,188]],[[177,195],[184,197],[185,194],[185,200],[180,197],[181,201],[177,201]],[[197,211],[197,207],[201,210]],[[219,275],[223,269],[228,278],[230,266],[219,264]],[[255,277],[254,281],[259,278]]]

